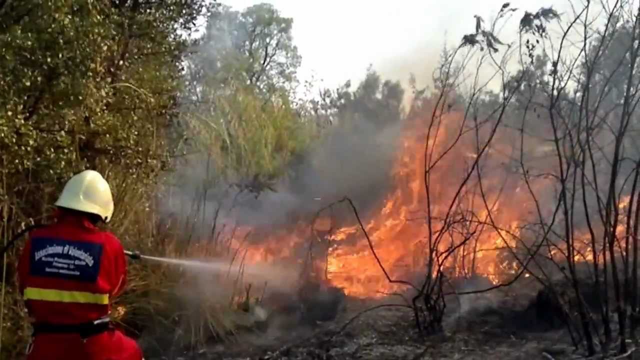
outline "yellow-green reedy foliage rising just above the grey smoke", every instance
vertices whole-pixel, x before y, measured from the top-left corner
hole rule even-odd
[[[292,156],[305,149],[310,125],[302,122],[285,94],[265,101],[248,85],[211,95],[188,120],[196,146],[211,154],[218,174],[232,183],[273,180]],[[263,186],[264,187],[264,186]]]

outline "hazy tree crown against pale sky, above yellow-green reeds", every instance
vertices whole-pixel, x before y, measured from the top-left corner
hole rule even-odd
[[[193,90],[232,82],[252,85],[263,95],[296,85],[300,55],[291,35],[293,20],[271,4],[256,4],[242,12],[219,6],[207,22],[198,52],[189,58]]]

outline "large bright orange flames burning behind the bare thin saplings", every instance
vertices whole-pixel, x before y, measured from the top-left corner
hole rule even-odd
[[[550,187],[550,183],[535,179],[527,185],[522,176],[515,175],[517,169],[509,161],[518,156],[513,154],[513,133],[499,131],[481,157],[480,177],[474,171],[461,186],[479,153],[476,136],[482,144],[488,132],[468,131],[469,120],[463,126],[461,112],[445,113],[440,126],[436,124],[431,130],[428,142],[427,163],[434,164],[442,156],[429,172],[429,232],[424,158],[431,113],[426,113],[408,120],[393,167],[392,189],[378,209],[367,212],[373,215],[362,219],[372,247],[392,279],[410,279],[420,271],[424,274],[429,243],[439,238],[435,253],[451,253],[446,259],[440,258],[448,275],[476,274],[495,283],[504,281],[520,268],[513,249],[525,241],[526,236],[521,236],[524,224],[538,216],[530,190]],[[463,135],[458,136],[461,129]],[[451,146],[454,142],[456,145]],[[442,231],[447,213],[448,226]],[[352,218],[352,225],[337,229],[332,229],[332,219],[325,214],[313,224],[305,221],[272,231],[259,245],[246,250],[244,261],[273,262],[293,257],[304,262],[307,257],[294,254],[296,249],[305,252],[309,245],[324,240],[328,244],[326,256],[316,257],[314,266],[330,284],[356,297],[378,297],[396,291],[397,286],[387,280],[360,225]],[[241,238],[250,231],[243,229],[236,236]],[[576,238],[578,241],[580,236]],[[545,250],[550,256],[556,256],[557,251]],[[576,257],[589,259],[588,251],[579,252]]]

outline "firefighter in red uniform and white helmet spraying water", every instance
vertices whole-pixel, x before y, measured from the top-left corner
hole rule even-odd
[[[127,263],[109,222],[113,197],[93,170],[73,176],[56,204],[56,222],[31,233],[18,263],[33,334],[28,360],[141,360],[136,341],[113,328],[111,299],[125,287]]]

